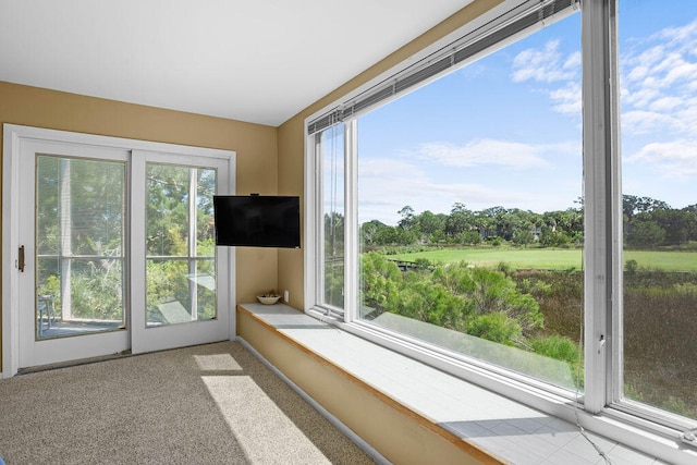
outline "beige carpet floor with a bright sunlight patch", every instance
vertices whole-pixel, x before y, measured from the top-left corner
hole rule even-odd
[[[25,464],[369,464],[239,342],[0,380],[0,457]]]

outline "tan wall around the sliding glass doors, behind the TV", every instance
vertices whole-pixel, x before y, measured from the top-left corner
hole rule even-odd
[[[0,82],[0,123],[234,150],[237,193],[278,189],[277,171],[268,169],[278,162],[276,127],[5,82]],[[237,249],[237,302],[252,302],[260,291],[278,287],[277,256],[273,249]],[[0,351],[1,338],[0,321]]]

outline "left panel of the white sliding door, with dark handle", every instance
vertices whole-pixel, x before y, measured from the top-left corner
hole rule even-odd
[[[23,145],[20,366],[129,350],[127,160],[122,149]]]

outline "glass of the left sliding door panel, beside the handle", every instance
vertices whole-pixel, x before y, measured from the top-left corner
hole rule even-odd
[[[124,163],[36,163],[37,338],[123,328]]]

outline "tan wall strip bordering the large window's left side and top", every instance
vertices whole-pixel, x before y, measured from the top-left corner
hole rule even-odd
[[[396,66],[413,54],[444,38],[502,2],[503,0],[475,0],[279,126],[279,193],[303,195],[304,121],[306,118],[339,100],[381,73]],[[306,244],[303,244],[303,247],[305,246]],[[290,291],[290,305],[298,309],[304,308],[305,305],[303,270],[303,255],[301,253],[279,254],[279,286]]]

